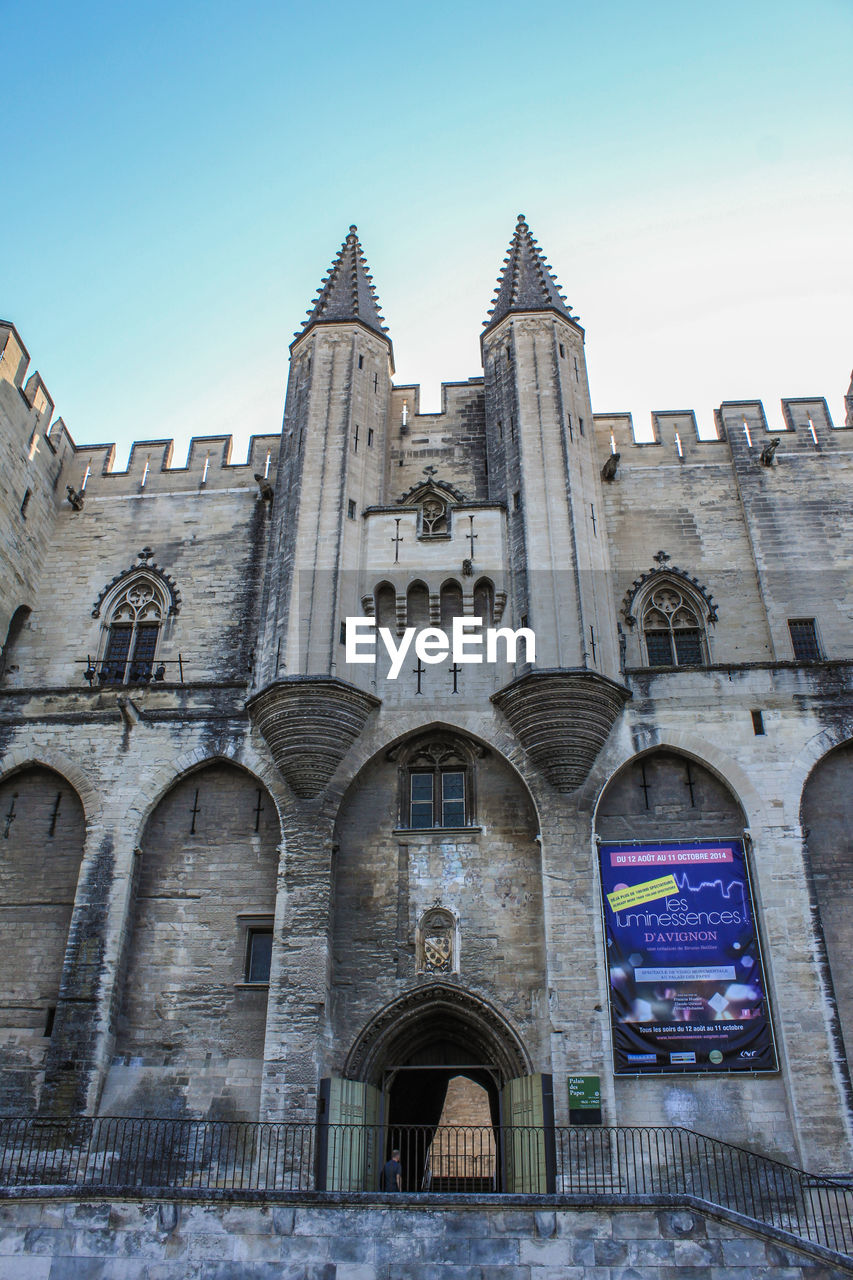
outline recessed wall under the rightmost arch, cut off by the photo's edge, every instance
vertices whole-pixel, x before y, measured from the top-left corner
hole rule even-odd
[[[836,1034],[853,1051],[853,737],[836,742],[811,769],[802,791],[800,822],[809,891],[822,960],[829,970]],[[835,1021],[835,1019],[834,1019]]]

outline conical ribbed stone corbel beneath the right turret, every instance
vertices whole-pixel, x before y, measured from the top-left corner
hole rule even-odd
[[[569,794],[587,781],[630,696],[596,671],[555,669],[520,676],[492,701],[551,786]]]

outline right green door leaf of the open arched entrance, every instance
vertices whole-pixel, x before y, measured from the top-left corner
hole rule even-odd
[[[556,1189],[553,1080],[520,1075],[501,1091],[503,1190],[552,1196]]]

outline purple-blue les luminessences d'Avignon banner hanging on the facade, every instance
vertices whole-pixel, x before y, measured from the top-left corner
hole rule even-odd
[[[742,841],[599,858],[616,1075],[776,1070]]]

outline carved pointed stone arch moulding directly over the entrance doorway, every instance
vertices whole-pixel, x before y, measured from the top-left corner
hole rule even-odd
[[[533,1070],[521,1036],[493,1004],[434,982],[406,991],[368,1021],[350,1048],[345,1075],[378,1084],[387,1068],[424,1056],[437,1036],[457,1044],[469,1061],[494,1066],[501,1083]]]

